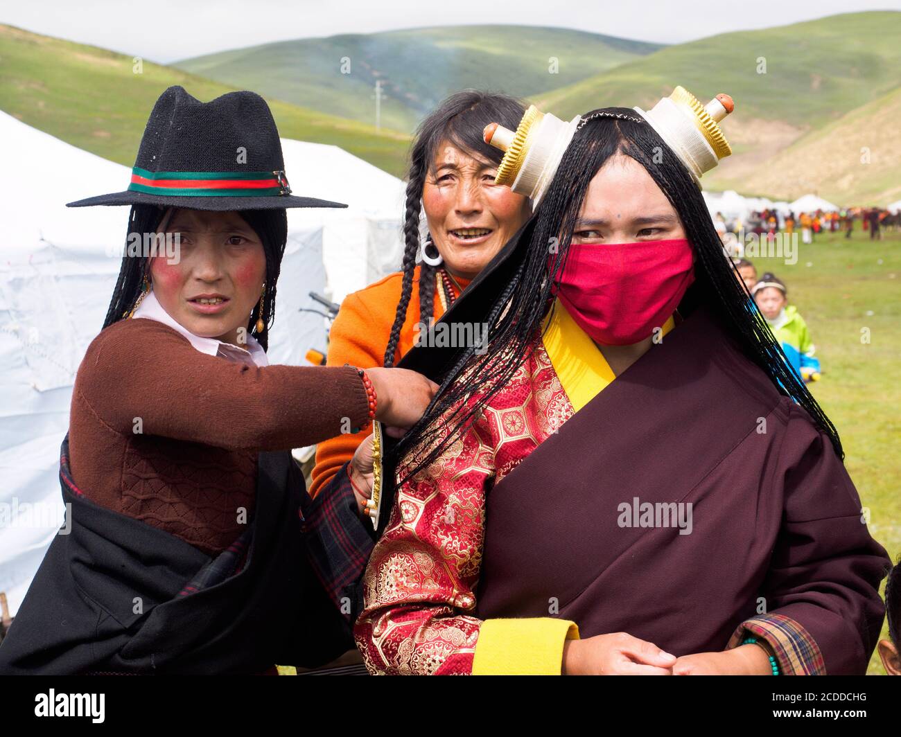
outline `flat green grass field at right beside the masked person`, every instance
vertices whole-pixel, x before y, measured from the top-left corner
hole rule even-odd
[[[801,244],[797,263],[752,259],[760,276],[773,271],[788,300],[804,315],[823,365],[811,385],[842,437],[845,467],[864,507],[869,530],[892,560],[901,556],[901,233],[869,241],[824,233]],[[870,342],[861,342],[869,328]],[[888,637],[887,626],[883,637]],[[884,674],[874,653],[869,674]]]

